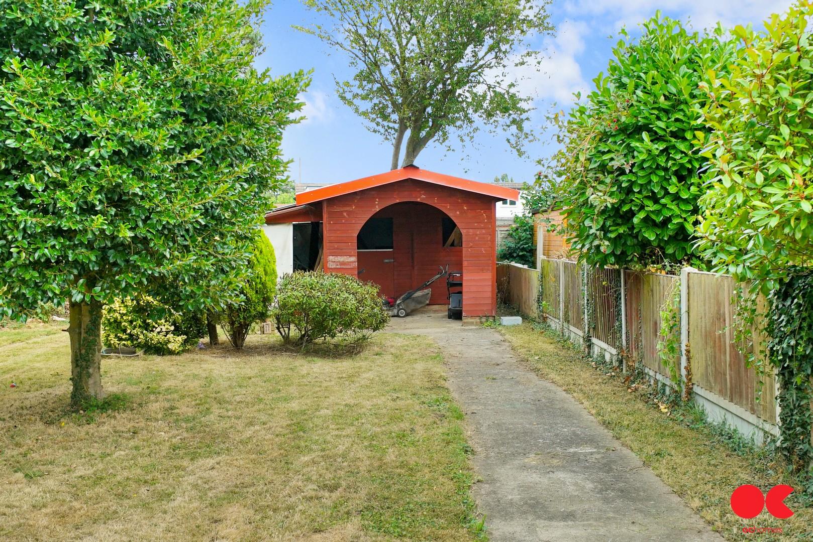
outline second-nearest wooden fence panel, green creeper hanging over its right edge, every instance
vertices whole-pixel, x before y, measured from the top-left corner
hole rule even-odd
[[[627,316],[627,352],[635,362],[661,375],[669,376],[658,353],[660,309],[672,288],[678,288],[680,277],[654,273],[624,272]],[[675,361],[680,366],[680,360]]]

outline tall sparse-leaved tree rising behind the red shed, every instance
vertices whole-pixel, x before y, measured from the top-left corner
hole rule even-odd
[[[351,80],[337,94],[367,128],[393,142],[391,167],[415,161],[430,141],[461,142],[476,121],[511,133],[521,154],[529,98],[506,73],[537,63],[528,37],[549,33],[549,0],[303,0],[333,18],[300,30],[350,57]],[[408,137],[406,134],[409,134]]]

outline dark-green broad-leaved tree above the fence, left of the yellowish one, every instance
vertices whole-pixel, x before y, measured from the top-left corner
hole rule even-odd
[[[693,150],[704,130],[694,103],[698,84],[720,72],[735,46],[689,33],[679,21],[655,15],[637,40],[622,31],[606,76],[574,107],[556,115],[559,191],[573,249],[591,264],[641,266],[693,257],[698,170]]]

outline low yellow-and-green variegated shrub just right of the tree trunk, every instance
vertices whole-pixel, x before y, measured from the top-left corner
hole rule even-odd
[[[102,314],[102,342],[111,348],[131,346],[160,356],[198,344],[206,332],[201,314],[182,314],[154,297],[116,299]]]

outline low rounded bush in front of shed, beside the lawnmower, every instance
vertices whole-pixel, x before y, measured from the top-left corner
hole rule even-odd
[[[285,343],[300,346],[338,336],[363,340],[389,321],[376,284],[321,271],[285,275],[272,316]]]

